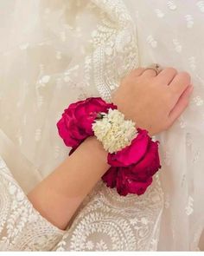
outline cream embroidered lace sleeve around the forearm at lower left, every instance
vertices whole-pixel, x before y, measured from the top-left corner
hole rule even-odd
[[[49,251],[63,233],[35,210],[0,157],[0,251]]]

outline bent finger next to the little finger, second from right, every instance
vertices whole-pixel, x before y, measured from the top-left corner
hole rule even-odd
[[[190,75],[188,75],[187,72],[181,72],[175,75],[175,78],[169,83],[169,89],[173,94],[175,94],[175,98],[177,98],[176,100],[178,100],[185,89],[188,88],[189,84]]]

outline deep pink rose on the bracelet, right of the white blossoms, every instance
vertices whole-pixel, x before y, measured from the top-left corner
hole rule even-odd
[[[107,187],[116,187],[121,195],[143,194],[161,167],[158,142],[152,141],[147,131],[137,131],[139,134],[130,146],[109,154],[112,167],[102,177]]]

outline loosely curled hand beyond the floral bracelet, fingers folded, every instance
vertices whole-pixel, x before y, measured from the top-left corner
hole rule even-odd
[[[168,129],[188,106],[193,91],[190,75],[176,69],[134,69],[124,77],[112,97],[125,119],[136,122],[150,135]]]

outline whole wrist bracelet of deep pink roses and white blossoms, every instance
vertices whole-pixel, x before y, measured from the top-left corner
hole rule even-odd
[[[72,147],[69,154],[89,136],[102,142],[111,166],[102,180],[120,195],[144,194],[161,167],[158,141],[152,141],[146,130],[135,128],[133,121],[125,121],[116,105],[100,97],[70,104],[57,128],[67,147]]]

